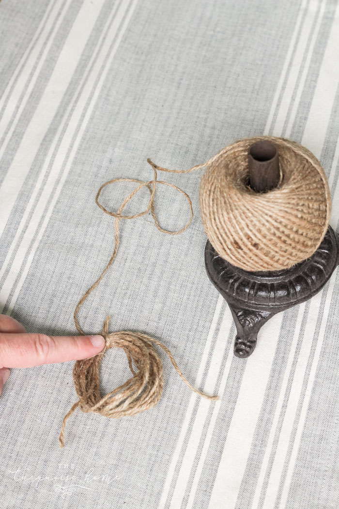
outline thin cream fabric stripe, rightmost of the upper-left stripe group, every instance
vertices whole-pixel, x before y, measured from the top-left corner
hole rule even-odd
[[[17,287],[15,289],[15,292],[13,294],[13,297],[11,299],[11,302],[10,302],[10,305],[9,305],[9,308],[8,308],[8,312],[7,312],[8,315],[10,315],[11,312],[12,312],[13,306],[15,305],[16,299],[17,299],[17,297],[18,297],[18,295],[20,293],[21,287],[22,287],[23,282],[24,282],[24,280],[25,280],[25,278],[27,276],[27,273],[28,273],[28,270],[30,268],[30,265],[32,264],[32,260],[33,260],[34,254],[35,254],[35,252],[36,252],[36,250],[37,250],[37,248],[39,246],[39,243],[40,243],[40,240],[42,238],[42,235],[43,235],[43,233],[44,233],[44,231],[45,231],[45,229],[47,227],[48,221],[49,221],[50,216],[51,216],[51,214],[53,212],[53,208],[55,206],[55,203],[56,203],[56,201],[58,199],[60,191],[63,188],[63,185],[65,183],[67,175],[68,175],[68,173],[70,171],[70,168],[71,168],[72,163],[73,163],[73,159],[74,159],[75,154],[77,152],[77,149],[79,147],[79,144],[80,144],[81,138],[83,136],[84,130],[85,130],[87,124],[88,124],[89,117],[90,117],[90,115],[93,112],[94,106],[96,104],[96,101],[98,99],[98,96],[100,94],[102,86],[104,84],[104,81],[105,81],[105,78],[107,76],[109,67],[110,67],[110,65],[111,65],[111,63],[113,61],[113,58],[114,58],[115,53],[116,53],[116,50],[117,50],[117,48],[118,48],[118,46],[120,44],[121,38],[125,34],[125,31],[127,29],[128,23],[129,23],[129,21],[131,19],[131,16],[132,16],[132,14],[134,12],[134,9],[135,9],[135,6],[136,6],[137,3],[138,3],[138,0],[133,0],[133,2],[131,2],[131,7],[129,9],[129,12],[128,12],[126,18],[125,18],[124,23],[122,24],[120,32],[118,33],[118,36],[117,36],[116,41],[115,41],[115,43],[113,45],[113,48],[109,48],[109,56],[108,56],[108,59],[107,59],[107,61],[105,63],[104,70],[103,70],[102,74],[100,75],[100,79],[98,80],[98,83],[95,86],[94,93],[93,93],[93,95],[90,98],[90,103],[85,108],[85,115],[83,116],[83,119],[81,121],[81,127],[80,127],[80,129],[79,129],[79,131],[78,131],[78,133],[76,135],[75,142],[74,142],[74,145],[73,145],[73,147],[71,149],[69,157],[66,154],[66,158],[68,157],[68,160],[67,160],[67,163],[65,165],[65,169],[64,169],[63,173],[59,176],[57,188],[55,189],[55,192],[53,193],[52,200],[51,200],[51,202],[50,202],[50,204],[48,206],[46,215],[44,216],[44,221],[43,221],[43,223],[41,225],[40,232],[38,233],[38,235],[37,235],[37,237],[35,239],[35,242],[34,242],[34,245],[32,247],[32,250],[29,253],[27,262],[26,262],[26,264],[25,264],[25,266],[24,266],[24,268],[22,270],[22,273],[21,273],[18,285],[17,285]],[[128,10],[128,7],[129,7],[129,0],[122,0],[122,2],[120,4],[120,7],[118,9],[118,12],[116,14],[116,17],[114,19],[114,22],[112,23],[111,35],[113,37],[116,34],[116,32],[118,30],[118,26],[121,23],[122,19],[124,18],[125,14],[126,14],[126,11]],[[103,58],[102,60],[104,61],[105,59]],[[96,62],[96,64],[97,64],[97,62]],[[99,67],[99,69],[100,69],[100,67]],[[86,85],[87,85],[87,83],[86,83]],[[86,103],[84,103],[84,105],[85,104]],[[71,128],[71,123],[69,124],[69,128]],[[69,138],[67,133],[65,135],[65,138],[66,139]],[[65,156],[65,154],[59,154],[58,153],[56,158],[55,158],[55,161],[57,161],[58,158],[60,158],[59,163],[61,162],[61,164],[62,164],[62,162],[64,161],[64,156]],[[57,166],[58,163],[55,162],[55,161],[54,161],[54,163]]]

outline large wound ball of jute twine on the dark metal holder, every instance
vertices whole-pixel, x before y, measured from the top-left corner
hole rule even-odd
[[[281,178],[275,189],[258,193],[248,185],[248,149],[263,139],[278,149]],[[331,196],[324,169],[305,147],[274,136],[245,138],[207,163],[176,173],[203,166],[202,223],[222,258],[248,271],[280,270],[318,249],[328,228]]]

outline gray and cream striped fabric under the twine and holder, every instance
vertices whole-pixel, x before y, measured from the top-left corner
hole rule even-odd
[[[75,333],[75,305],[113,248],[96,192],[112,178],[149,180],[147,157],[179,169],[245,136],[294,139],[325,168],[339,231],[337,0],[3,0],[0,26],[0,305],[28,331]],[[110,314],[112,330],[158,337],[221,400],[191,393],[161,354],[155,409],[121,420],[76,411],[60,450],[73,363],[12,370],[1,507],[339,506],[337,273],[274,316],[248,360],[235,358],[230,310],[204,269],[202,172],[161,176],[191,196],[181,235],[150,215],[122,222],[116,262],[80,323],[98,333]],[[107,189],[105,204],[117,210],[132,189]],[[189,217],[167,187],[156,208],[164,228]],[[127,373],[124,354],[107,352],[103,392]]]

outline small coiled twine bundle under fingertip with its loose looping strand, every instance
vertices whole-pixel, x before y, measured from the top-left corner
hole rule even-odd
[[[139,185],[136,189],[134,189],[121,203],[118,211],[111,212],[103,205],[99,203],[99,196],[102,189],[114,182],[137,182]],[[190,206],[190,219],[187,224],[176,232],[170,232],[168,230],[164,230],[157,219],[155,213],[155,205],[154,205],[154,197],[156,192],[156,185],[164,184],[166,186],[170,186],[180,193],[182,193],[186,199],[188,200]],[[146,210],[140,212],[139,214],[134,215],[122,215],[121,212],[128,204],[128,202],[133,198],[133,196],[143,187],[147,187],[150,192],[150,199],[148,202],[148,206]],[[156,223],[156,227],[163,233],[167,233],[169,235],[178,235],[179,233],[186,230],[193,218],[193,209],[190,197],[186,192],[182,191],[179,187],[176,187],[173,184],[169,184],[168,182],[157,181],[157,171],[154,169],[154,179],[149,182],[143,182],[137,179],[113,179],[105,184],[103,184],[96,196],[96,203],[98,207],[101,208],[106,214],[115,217],[115,246],[114,251],[106,265],[105,269],[99,276],[99,278],[94,282],[94,284],[87,290],[84,296],[80,299],[79,303],[76,306],[74,312],[74,322],[79,334],[85,334],[85,332],[81,329],[78,322],[78,312],[86,300],[88,295],[99,285],[102,278],[105,276],[106,272],[114,262],[116,257],[118,245],[119,245],[119,223],[121,219],[134,219],[137,217],[142,217],[147,214],[149,211],[151,212],[153,219]],[[63,423],[61,425],[61,431],[59,436],[59,444],[64,447],[64,434],[67,419],[72,415],[74,410],[79,407],[82,412],[95,412],[101,414],[105,417],[124,417],[126,415],[136,415],[137,413],[143,412],[145,410],[149,410],[157,405],[161,398],[161,394],[164,386],[164,378],[163,378],[163,365],[161,358],[159,357],[156,350],[153,348],[152,343],[158,345],[162,348],[170,358],[175,371],[178,373],[179,377],[190,387],[190,389],[203,398],[208,400],[218,400],[217,396],[209,396],[204,394],[203,392],[194,388],[190,382],[183,376],[181,373],[179,366],[175,362],[172,353],[170,350],[163,345],[160,341],[156,340],[153,337],[147,336],[146,334],[142,334],[141,332],[132,332],[132,331],[118,331],[109,333],[108,325],[109,325],[110,317],[108,316],[104,322],[102,335],[105,338],[105,347],[102,352],[94,357],[90,357],[89,359],[78,360],[75,363],[73,370],[73,379],[75,390],[77,392],[79,401],[77,401],[71,408],[71,410],[65,415]],[[132,377],[127,380],[124,384],[120,385],[113,391],[109,392],[105,396],[101,396],[100,393],[100,380],[99,380],[99,370],[100,364],[102,361],[102,356],[112,347],[122,348],[128,359],[129,367],[132,372]],[[133,365],[134,364],[134,365]]]

